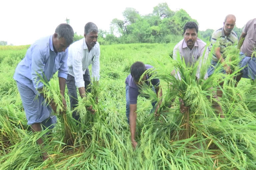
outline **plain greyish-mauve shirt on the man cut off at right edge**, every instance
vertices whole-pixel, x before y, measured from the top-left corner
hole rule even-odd
[[[251,57],[252,53],[256,51],[256,18],[247,22],[243,32],[246,36],[240,51],[246,56]],[[254,57],[256,56],[254,55]]]

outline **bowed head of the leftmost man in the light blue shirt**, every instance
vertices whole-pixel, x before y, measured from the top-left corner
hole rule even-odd
[[[60,24],[55,30],[52,38],[53,48],[57,52],[62,52],[73,42],[74,31],[68,24]]]

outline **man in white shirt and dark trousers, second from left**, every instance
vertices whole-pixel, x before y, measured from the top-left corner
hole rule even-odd
[[[70,100],[70,108],[73,110],[78,104],[77,90],[81,98],[90,93],[89,85],[91,83],[88,66],[92,64],[92,79],[100,79],[100,45],[97,42],[98,28],[89,22],[84,27],[84,38],[72,43],[68,51],[68,77],[67,88]],[[91,108],[87,108],[91,112]],[[80,121],[79,113],[73,112],[72,117]]]

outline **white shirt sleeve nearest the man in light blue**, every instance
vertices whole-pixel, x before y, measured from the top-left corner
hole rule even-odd
[[[77,88],[84,87],[84,78],[83,78],[83,66],[82,66],[82,54],[77,51],[73,54],[73,72],[75,78],[75,85]]]

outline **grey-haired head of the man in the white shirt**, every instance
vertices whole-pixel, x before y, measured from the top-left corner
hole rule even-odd
[[[96,44],[98,39],[98,27],[92,22],[85,24],[84,37],[87,47],[91,49]]]

